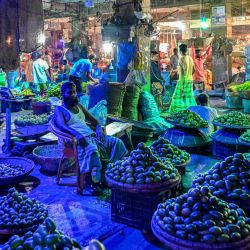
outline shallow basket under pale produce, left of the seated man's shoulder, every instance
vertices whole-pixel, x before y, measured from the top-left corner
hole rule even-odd
[[[25,126],[20,127],[15,125],[16,131],[19,133],[18,137],[27,137],[29,139],[33,137],[41,137],[49,133],[49,125],[48,124],[39,124],[33,126]]]

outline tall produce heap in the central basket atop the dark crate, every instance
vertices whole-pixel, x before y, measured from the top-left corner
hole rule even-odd
[[[180,178],[176,168],[163,164],[143,143],[139,143],[129,157],[108,164],[106,175],[114,181],[128,184],[151,184]]]

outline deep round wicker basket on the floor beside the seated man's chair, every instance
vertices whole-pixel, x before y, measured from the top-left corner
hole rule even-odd
[[[60,159],[62,158],[62,148],[58,145],[39,146],[33,150],[33,156],[41,166],[41,172],[48,175],[57,174]],[[69,170],[74,164],[74,159],[64,161],[64,170]]]

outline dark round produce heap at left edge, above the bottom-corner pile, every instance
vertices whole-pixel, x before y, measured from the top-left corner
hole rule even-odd
[[[15,188],[0,198],[0,229],[25,229],[43,223],[47,208]]]

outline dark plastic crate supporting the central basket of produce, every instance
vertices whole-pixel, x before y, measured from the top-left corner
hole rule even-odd
[[[111,219],[138,229],[150,229],[151,218],[157,205],[165,199],[175,197],[181,189],[163,191],[153,194],[128,193],[123,190],[111,189]]]

